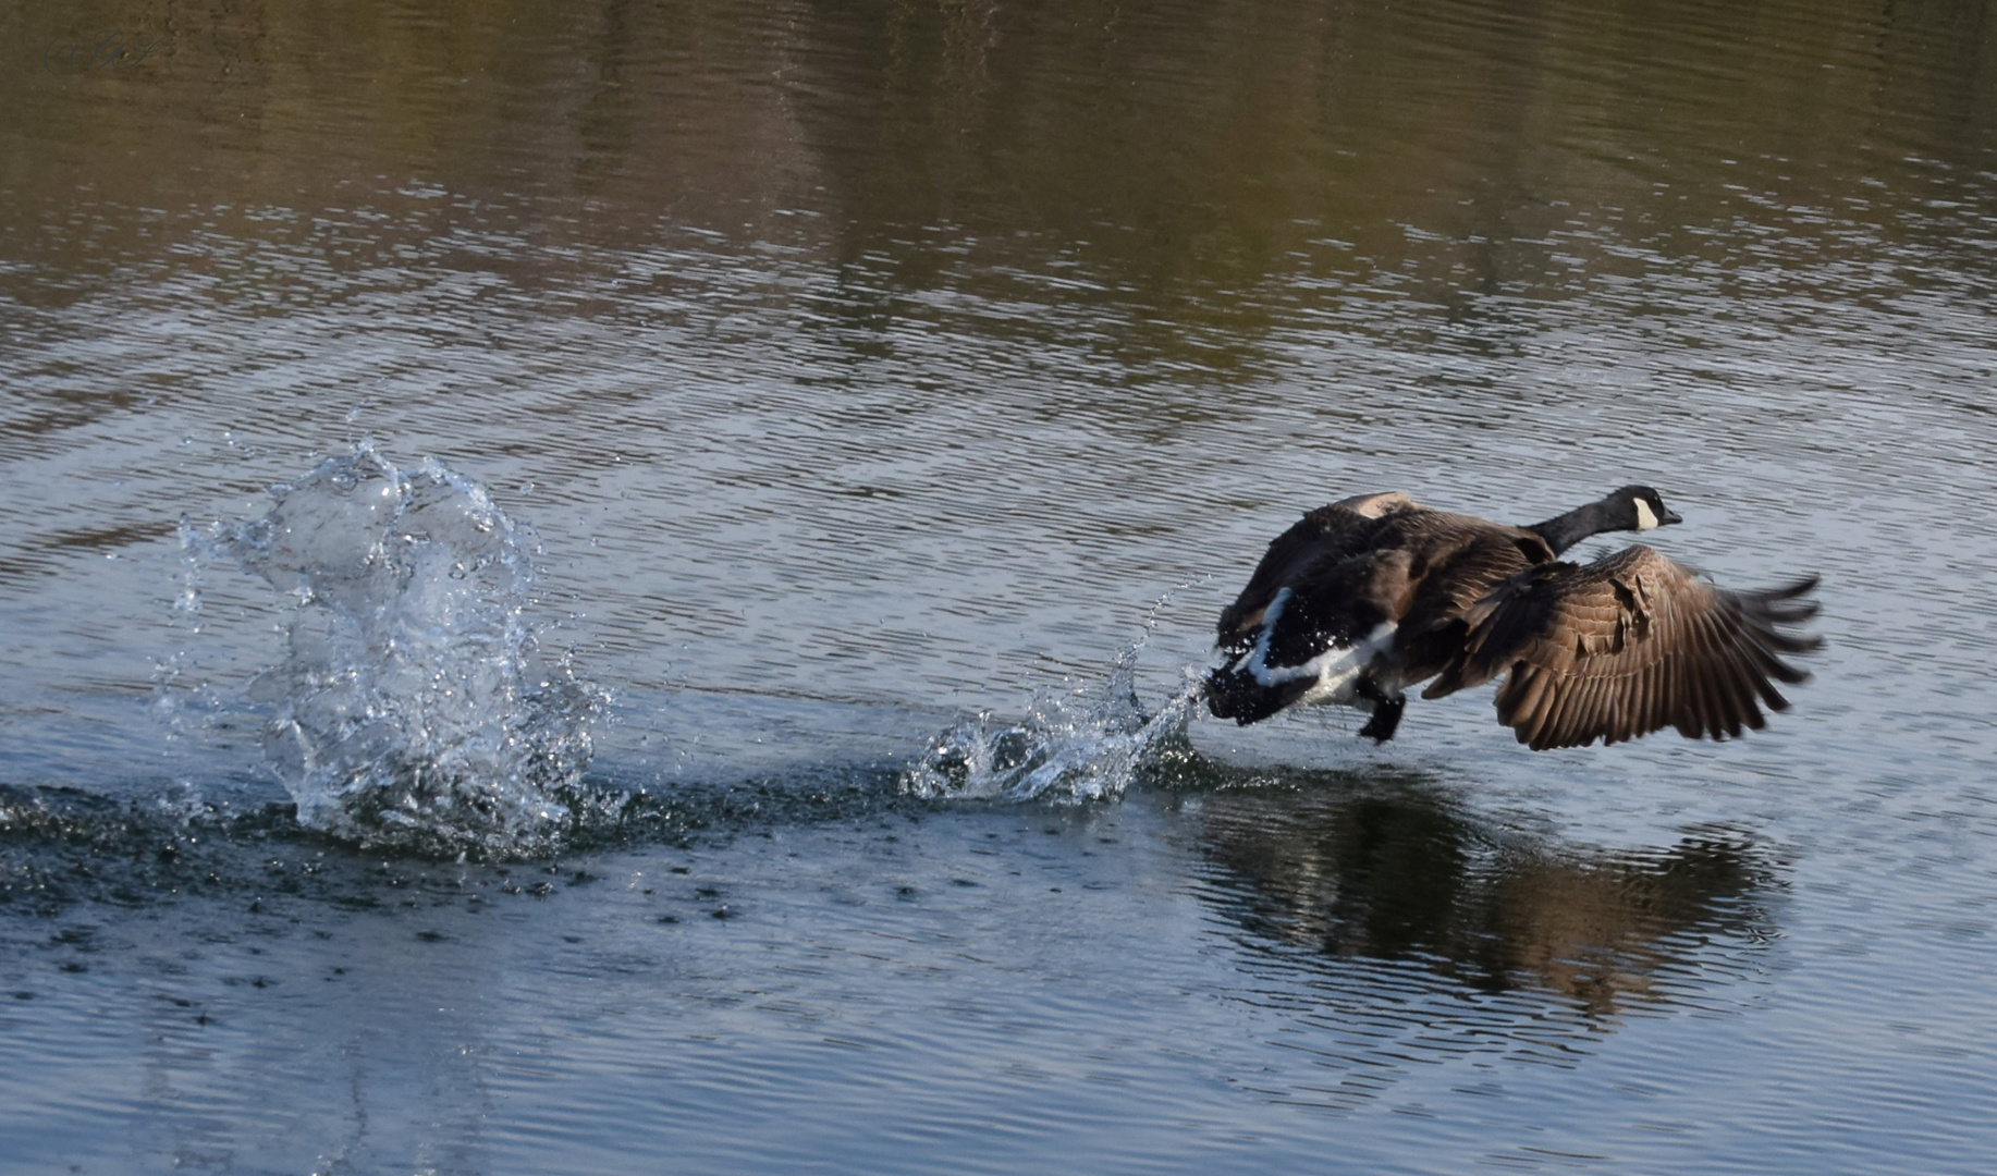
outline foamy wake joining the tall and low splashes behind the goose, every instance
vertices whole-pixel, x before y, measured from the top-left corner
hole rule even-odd
[[[485,487],[435,459],[397,469],[361,441],[270,495],[250,521],[182,521],[176,611],[200,635],[204,579],[250,573],[286,599],[282,657],[240,689],[218,689],[184,673],[200,661],[184,649],[162,667],[156,705],[176,733],[226,733],[254,717],[298,825],[363,849],[517,859],[619,833],[679,837],[765,809],[1104,801],[1188,751],[1200,667],[1186,667],[1156,711],[1136,695],[1136,659],[1166,595],[1106,679],[1042,691],[1018,721],[965,719],[893,781],[863,773],[801,785],[801,797],[763,795],[753,781],[713,797],[585,787],[607,695],[565,653],[541,649],[527,619],[531,545]],[[46,799],[22,803],[40,811]]]

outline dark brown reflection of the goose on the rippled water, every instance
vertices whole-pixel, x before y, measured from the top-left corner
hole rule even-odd
[[[1771,934],[1775,867],[1737,831],[1590,851],[1488,827],[1418,779],[1296,777],[1180,801],[1198,811],[1208,900],[1292,966],[1404,960],[1600,1018],[1717,982],[1739,970],[1729,940]]]

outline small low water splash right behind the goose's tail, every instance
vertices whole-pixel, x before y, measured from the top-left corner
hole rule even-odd
[[[1166,597],[1170,599],[1170,597]],[[1136,657],[1158,609],[1102,683],[1034,697],[1018,723],[991,713],[957,723],[931,741],[901,777],[901,791],[923,799],[1052,799],[1066,803],[1114,799],[1138,775],[1186,749],[1186,723],[1200,699],[1200,671],[1158,711],[1136,697]]]

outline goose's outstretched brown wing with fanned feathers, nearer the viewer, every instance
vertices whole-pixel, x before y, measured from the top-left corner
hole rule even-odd
[[[1532,567],[1468,613],[1464,651],[1424,691],[1440,697],[1504,673],[1498,721],[1534,751],[1618,743],[1662,727],[1687,739],[1761,729],[1761,705],[1789,707],[1781,661],[1821,645],[1783,631],[1817,613],[1815,577],[1733,593],[1634,545],[1586,567]]]

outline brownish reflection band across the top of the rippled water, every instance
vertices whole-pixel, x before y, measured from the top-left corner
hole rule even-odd
[[[1721,258],[1737,218],[1899,236],[1879,210],[1933,218],[1963,196],[1935,166],[1997,134],[1985,4],[132,0],[16,6],[0,48],[100,28],[170,42],[0,72],[0,200],[593,202],[547,210],[551,244],[789,238],[777,214],[809,210],[897,290],[1068,278],[1138,325],[1234,331],[1278,309],[1224,295],[1270,278],[1462,311],[1642,272],[1618,246]]]

